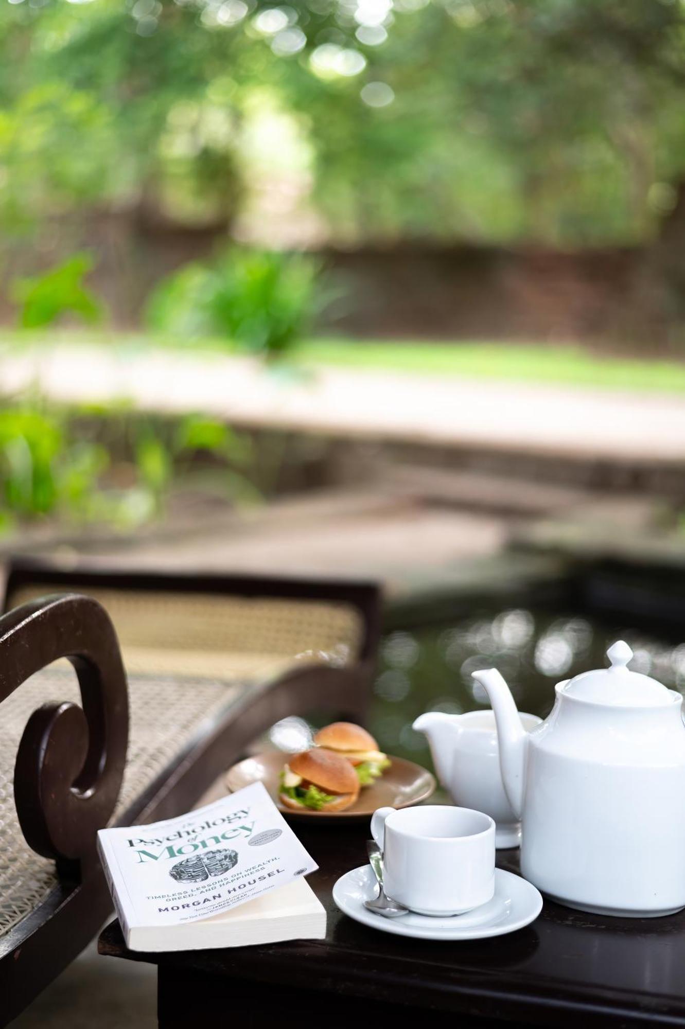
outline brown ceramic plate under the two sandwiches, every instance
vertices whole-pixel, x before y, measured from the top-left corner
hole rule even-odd
[[[302,808],[301,811],[291,811],[290,808],[283,808],[279,804],[279,775],[287,756],[279,750],[265,750],[253,757],[246,757],[244,761],[228,769],[226,786],[231,793],[235,793],[237,789],[249,786],[252,782],[263,782],[279,810],[288,818],[317,818],[319,821],[370,818],[376,808],[408,808],[412,804],[427,800],[435,789],[435,779],[430,772],[422,769],[420,765],[414,765],[413,761],[407,761],[403,757],[393,757],[390,754],[392,766],[372,786],[366,786],[359,791],[359,797],[352,807],[330,814],[308,811],[307,808]]]

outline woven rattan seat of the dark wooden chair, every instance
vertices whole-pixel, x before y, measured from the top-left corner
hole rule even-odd
[[[226,664],[224,654],[224,671]],[[245,688],[249,688],[245,679],[130,676],[129,756],[114,818],[174,760],[203,722],[228,709]],[[24,840],[12,782],[14,756],[29,716],[49,701],[80,703],[75,673],[66,662],[34,675],[0,706],[0,936],[44,900],[58,882],[55,862],[39,857]]]

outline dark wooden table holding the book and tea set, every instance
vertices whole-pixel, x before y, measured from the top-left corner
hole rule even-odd
[[[492,939],[433,943],[376,932],[341,915],[335,880],[363,864],[368,825],[297,826],[320,864],[309,882],[328,913],[325,941],[143,954],[118,923],[100,953],[158,968],[163,1029],[188,1026],[317,1029],[389,1019],[434,1026],[685,1026],[685,913],[629,920],[545,901],[532,925]],[[517,871],[517,851],[500,851]],[[132,1015],[135,1013],[132,1013]],[[456,1016],[458,1017],[456,1019]]]

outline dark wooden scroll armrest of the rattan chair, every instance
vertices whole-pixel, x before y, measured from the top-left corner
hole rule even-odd
[[[0,617],[0,702],[60,658],[82,707],[45,704],[29,718],[14,766],[14,803],[29,846],[58,861],[92,860],[121,785],[127,680],[114,627],[89,597],[45,597]],[[1,716],[1,709],[0,709]]]

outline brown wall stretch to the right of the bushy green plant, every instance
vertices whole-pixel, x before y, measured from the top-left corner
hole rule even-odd
[[[357,335],[602,340],[625,331],[639,250],[413,246],[331,251]]]

